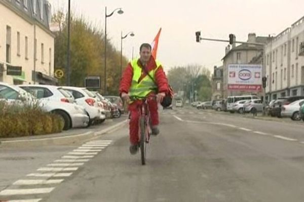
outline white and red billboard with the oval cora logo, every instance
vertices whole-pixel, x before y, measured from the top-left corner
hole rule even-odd
[[[229,65],[228,89],[240,91],[261,91],[262,65]]]

